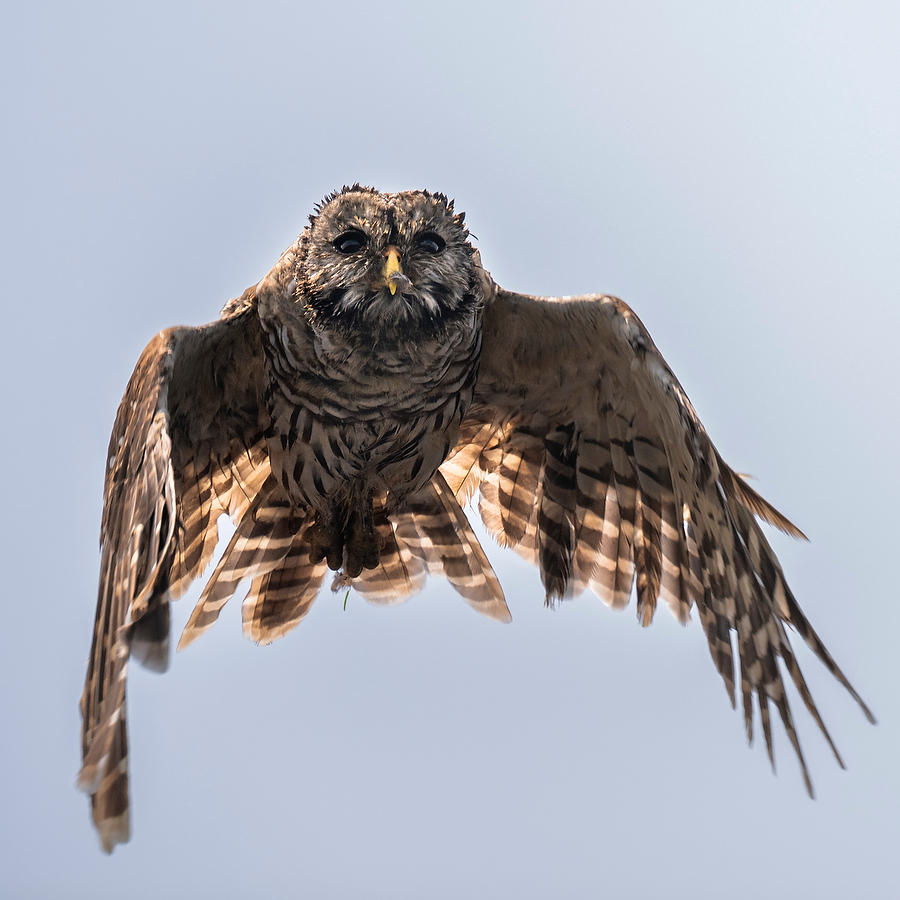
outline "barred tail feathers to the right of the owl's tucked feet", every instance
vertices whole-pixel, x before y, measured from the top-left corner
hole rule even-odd
[[[379,567],[353,579],[355,590],[392,603],[419,590],[426,574],[442,575],[473,609],[500,622],[512,619],[500,582],[440,472],[390,518],[379,522],[376,513]]]

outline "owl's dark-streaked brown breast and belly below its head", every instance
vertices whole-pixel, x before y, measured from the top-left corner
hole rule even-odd
[[[480,329],[397,347],[323,347],[272,335],[273,474],[292,502],[342,528],[428,483],[456,441],[477,374]]]

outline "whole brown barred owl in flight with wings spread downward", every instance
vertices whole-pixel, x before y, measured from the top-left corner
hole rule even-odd
[[[375,603],[443,577],[508,621],[463,512],[476,497],[548,605],[634,594],[645,626],[660,599],[682,622],[694,608],[748,737],[755,697],[770,758],[774,708],[810,793],[784,671],[841,759],[788,626],[872,718],[757,520],[801,532],[724,462],[631,309],[504,290],[443,194],[357,184],[217,321],[160,332],[119,406],[81,702],[79,785],[103,848],[129,836],[128,661],[166,667],[169,602],[210,562],[221,515],[236,528],[179,647],[246,581],[244,632],[281,637],[328,570]]]

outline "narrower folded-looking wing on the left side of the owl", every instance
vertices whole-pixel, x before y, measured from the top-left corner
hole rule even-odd
[[[263,377],[251,290],[218,322],[160,332],[116,415],[78,779],[107,851],[129,832],[127,662],[166,667],[169,598],[209,562],[219,516],[239,518],[269,473]]]

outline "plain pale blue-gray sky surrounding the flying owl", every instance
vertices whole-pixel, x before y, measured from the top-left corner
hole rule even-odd
[[[891,6],[8,9],[0,893],[898,896]],[[696,621],[547,612],[490,547],[510,626],[432,584],[257,649],[234,602],[134,668],[134,836],[99,852],[73,780],[115,406],[354,180],[455,196],[501,284],[624,296],[808,532],[775,546],[881,720],[801,652],[849,765],[795,699],[815,802],[781,731],[777,778],[746,749]]]

